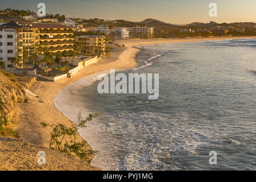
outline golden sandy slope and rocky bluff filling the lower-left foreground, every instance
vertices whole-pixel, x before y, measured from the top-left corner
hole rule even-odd
[[[33,118],[22,119],[26,112],[19,103],[27,105],[33,97],[38,97],[28,90],[35,82],[35,77],[13,75],[0,69],[0,170],[99,170],[75,156],[25,142],[19,131],[23,126],[27,128]],[[35,126],[33,131],[39,129]],[[45,151],[46,165],[38,165],[38,151]]]

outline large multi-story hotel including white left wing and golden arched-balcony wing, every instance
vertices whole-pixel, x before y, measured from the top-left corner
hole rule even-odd
[[[13,57],[23,57],[23,47],[30,56],[38,46],[47,46],[51,52],[73,51],[73,28],[56,23],[1,24],[0,60],[8,68],[13,67]],[[22,67],[22,61],[18,66]]]

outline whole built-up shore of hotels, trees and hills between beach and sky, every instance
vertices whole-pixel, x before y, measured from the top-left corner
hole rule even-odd
[[[38,16],[30,10],[0,10],[0,66],[26,68],[40,76],[71,76],[85,60],[109,53],[118,39],[195,38],[256,35],[256,23],[191,23],[184,26],[142,22]],[[21,70],[24,71],[24,70]],[[77,70],[75,70],[77,72]]]

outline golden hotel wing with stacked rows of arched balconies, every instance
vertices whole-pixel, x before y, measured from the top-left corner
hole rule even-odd
[[[51,52],[73,51],[73,28],[57,23],[26,24],[35,30],[35,47],[47,46]]]

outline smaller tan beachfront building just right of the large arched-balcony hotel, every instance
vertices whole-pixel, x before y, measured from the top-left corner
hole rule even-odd
[[[75,44],[79,48],[80,53],[84,53],[86,55],[98,55],[105,50],[105,39],[103,36],[77,36]]]

